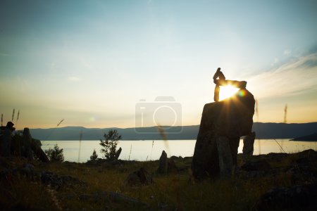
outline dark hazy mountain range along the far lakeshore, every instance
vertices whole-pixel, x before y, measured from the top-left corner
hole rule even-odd
[[[199,125],[168,127],[168,140],[195,140]],[[32,137],[41,141],[48,140],[99,140],[109,129],[116,129],[122,140],[160,140],[162,139],[157,127],[142,128],[85,128],[85,127],[56,127],[49,129],[30,129]],[[254,122],[252,130],[256,139],[294,139],[317,132],[317,122],[310,123],[262,123]],[[167,131],[167,130],[166,130]]]

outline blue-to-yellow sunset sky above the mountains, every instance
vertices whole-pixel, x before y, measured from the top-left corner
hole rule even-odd
[[[286,104],[287,123],[316,122],[316,8],[308,0],[2,0],[0,113],[6,124],[15,108],[18,129],[61,120],[135,127],[140,106],[153,116],[144,126],[199,124],[220,67],[248,82],[254,122],[283,122]]]

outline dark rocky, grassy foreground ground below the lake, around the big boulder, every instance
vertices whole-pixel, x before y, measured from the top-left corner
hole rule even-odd
[[[43,163],[0,158],[1,210],[317,210],[317,152],[238,155],[231,177],[197,182],[192,158]],[[170,163],[170,162],[169,162]]]

